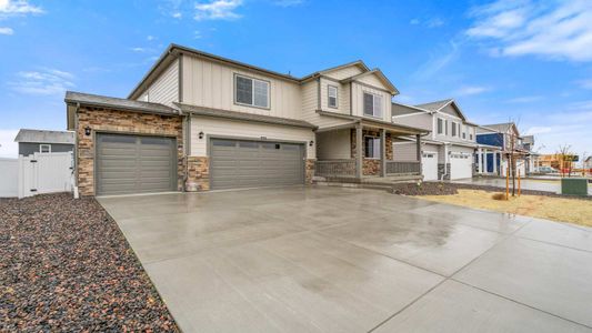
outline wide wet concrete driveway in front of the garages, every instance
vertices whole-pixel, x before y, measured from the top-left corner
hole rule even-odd
[[[592,230],[382,191],[103,198],[184,332],[592,332]]]

